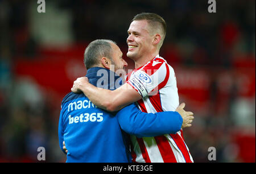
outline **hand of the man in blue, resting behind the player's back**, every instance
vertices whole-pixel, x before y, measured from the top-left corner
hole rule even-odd
[[[193,117],[193,113],[191,111],[185,111],[184,110],[185,107],[185,103],[181,103],[179,107],[177,107],[176,111],[181,115],[181,117],[183,118],[183,123],[181,128],[184,127],[191,127],[192,126],[192,121],[194,119]]]

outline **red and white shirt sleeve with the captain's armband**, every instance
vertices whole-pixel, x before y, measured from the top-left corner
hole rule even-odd
[[[127,84],[131,85],[142,97],[148,96],[152,90],[158,90],[160,84],[168,80],[168,65],[164,61],[154,60],[131,74]]]

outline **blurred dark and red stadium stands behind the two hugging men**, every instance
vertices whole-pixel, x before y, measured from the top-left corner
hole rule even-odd
[[[0,162],[64,162],[60,103],[84,76],[83,54],[112,39],[127,59],[133,16],[167,22],[160,56],[174,69],[180,102],[195,114],[184,138],[195,162],[255,162],[255,1],[0,1]],[[216,161],[208,148],[216,148]]]

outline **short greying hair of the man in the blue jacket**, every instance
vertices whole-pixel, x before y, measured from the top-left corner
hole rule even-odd
[[[112,60],[112,46],[110,43],[115,44],[112,40],[97,39],[86,47],[84,52],[84,65],[86,69],[98,65],[102,57],[108,57]]]

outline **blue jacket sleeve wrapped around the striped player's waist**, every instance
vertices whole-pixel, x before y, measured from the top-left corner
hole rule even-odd
[[[176,111],[143,113],[134,103],[119,110],[116,116],[123,131],[139,138],[175,134],[183,123]]]

